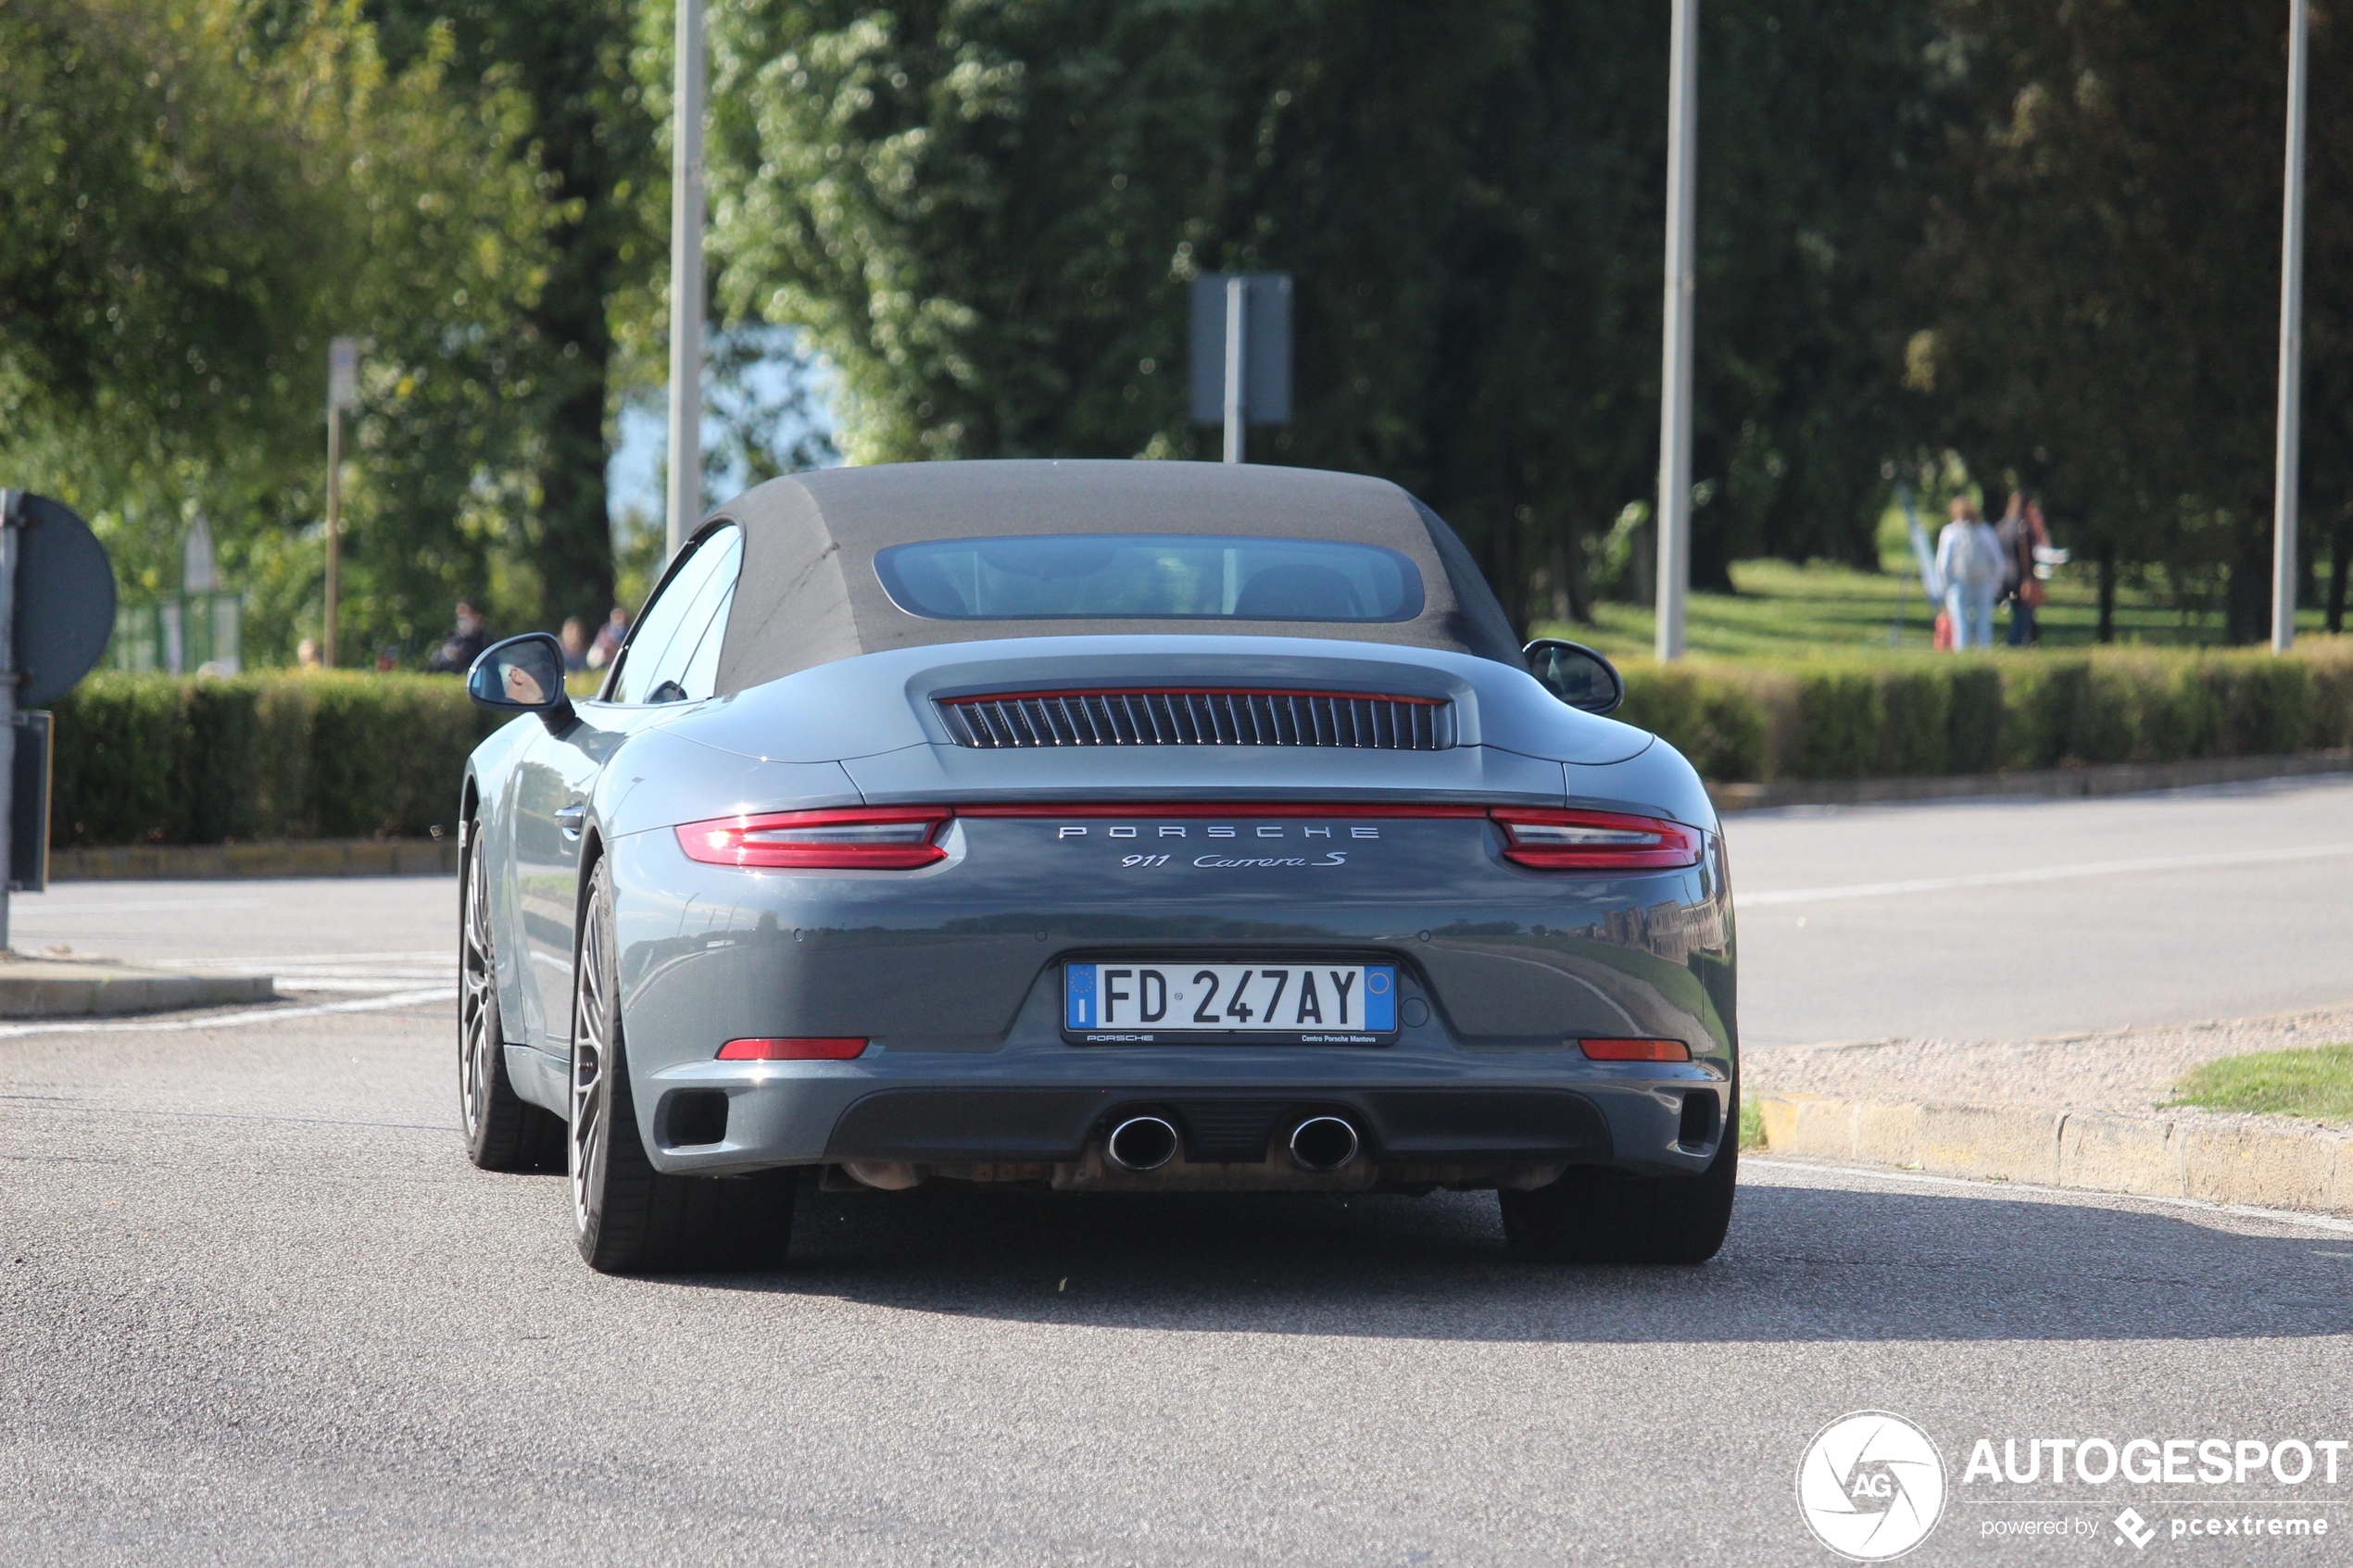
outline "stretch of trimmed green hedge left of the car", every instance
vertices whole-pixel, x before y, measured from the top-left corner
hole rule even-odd
[[[499,722],[435,675],[99,672],[56,703],[49,842],[424,837]]]

